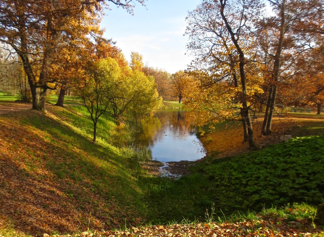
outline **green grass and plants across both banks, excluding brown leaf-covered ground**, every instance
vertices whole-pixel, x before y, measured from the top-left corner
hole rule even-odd
[[[51,98],[54,102],[55,97]],[[40,169],[39,164],[44,164],[57,183],[68,180],[62,192],[66,198],[80,198],[77,207],[80,214],[87,216],[92,210],[89,206],[98,211],[100,205],[108,207],[113,202],[121,209],[114,213],[115,217],[120,221],[126,219],[128,225],[138,224],[135,218],[144,224],[234,221],[253,219],[257,212],[286,216],[288,209],[296,209],[295,202],[317,205],[324,201],[324,136],[295,138],[225,159],[211,155],[192,166],[191,175],[170,180],[142,172],[140,164],[147,162],[148,154],[124,147],[131,139],[127,125],[116,126],[109,116],[101,117],[97,143],[91,144],[93,123],[85,107],[48,107],[52,116],[29,111],[16,117],[19,124],[42,134],[42,145],[23,147],[29,157],[23,176],[46,179],[42,175],[33,176]],[[4,115],[5,119],[10,116]],[[225,129],[231,125],[224,122],[217,126]],[[318,131],[322,127],[313,129]],[[203,131],[208,133],[209,128]],[[15,142],[13,149],[21,146],[19,140]],[[311,206],[300,205],[305,206],[305,211],[298,206],[301,212],[289,217],[291,220],[313,215]],[[100,211],[92,213],[98,218],[104,215]],[[84,222],[87,221],[85,218]],[[106,221],[107,225],[113,225]],[[15,236],[10,226],[6,231],[9,234],[3,231],[0,235]]]

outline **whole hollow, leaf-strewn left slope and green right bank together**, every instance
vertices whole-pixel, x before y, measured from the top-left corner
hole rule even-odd
[[[145,154],[123,148],[131,139],[127,125],[100,118],[98,142],[91,144],[93,124],[84,107],[46,109],[0,114],[0,236],[235,222],[259,215],[253,211],[299,221],[313,217],[312,205],[323,202],[324,136],[225,159],[214,152],[192,165],[191,175],[171,180],[149,175],[140,166]],[[316,126],[312,133],[321,131]],[[296,215],[297,209],[303,211]]]

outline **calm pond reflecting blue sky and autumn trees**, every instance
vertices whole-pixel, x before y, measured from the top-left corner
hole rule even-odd
[[[133,146],[149,149],[153,160],[195,161],[203,158],[205,149],[194,132],[194,118],[183,109],[158,110],[153,117],[141,120]]]

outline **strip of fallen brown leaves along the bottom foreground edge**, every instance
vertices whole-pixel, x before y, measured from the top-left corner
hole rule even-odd
[[[276,219],[258,216],[259,220],[241,222],[208,222],[208,223],[175,223],[171,225],[153,225],[131,227],[124,230],[113,231],[84,231],[73,235],[55,235],[55,237],[136,237],[136,236],[165,236],[165,237],[194,237],[194,236],[318,236],[320,230],[314,228],[311,220],[288,221],[285,218]],[[44,234],[44,237],[50,235]],[[53,236],[54,237],[54,236]]]

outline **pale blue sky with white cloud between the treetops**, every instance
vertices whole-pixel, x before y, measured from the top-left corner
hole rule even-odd
[[[137,4],[134,15],[111,5],[106,11],[101,28],[105,37],[117,41],[126,59],[132,51],[143,55],[144,63],[169,73],[187,68],[192,58],[187,52],[188,37],[185,17],[200,0],[148,0],[144,6]]]

